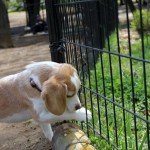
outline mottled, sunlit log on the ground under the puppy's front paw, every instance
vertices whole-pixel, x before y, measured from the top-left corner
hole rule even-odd
[[[55,129],[52,150],[96,150],[76,124],[66,123]]]

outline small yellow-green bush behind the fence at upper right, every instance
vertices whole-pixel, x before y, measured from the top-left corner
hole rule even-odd
[[[141,12],[139,10],[135,11],[133,13],[133,21],[131,23],[131,27],[136,29],[137,31],[140,31],[141,21],[143,30],[150,30],[150,11],[144,9]]]

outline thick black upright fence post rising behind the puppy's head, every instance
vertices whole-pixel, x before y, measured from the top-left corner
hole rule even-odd
[[[56,0],[45,0],[51,59],[52,61],[58,63],[64,63],[64,48],[62,42],[60,41],[62,38],[62,32],[58,26],[58,18],[54,7],[54,2],[56,4]]]

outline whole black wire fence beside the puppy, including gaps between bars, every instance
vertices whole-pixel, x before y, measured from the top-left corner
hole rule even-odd
[[[149,2],[46,0],[46,9],[52,60],[78,70],[92,112],[82,127],[93,143],[150,149]]]

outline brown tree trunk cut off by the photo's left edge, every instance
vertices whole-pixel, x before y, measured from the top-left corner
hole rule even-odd
[[[0,0],[0,48],[13,47],[8,12],[4,0]]]

